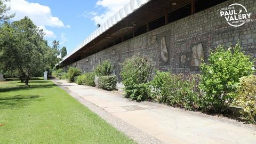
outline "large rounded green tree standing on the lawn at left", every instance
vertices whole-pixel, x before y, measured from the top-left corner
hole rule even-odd
[[[15,71],[28,85],[30,77],[55,65],[59,53],[47,46],[43,36],[43,30],[27,17],[4,23],[0,28],[0,69]]]

